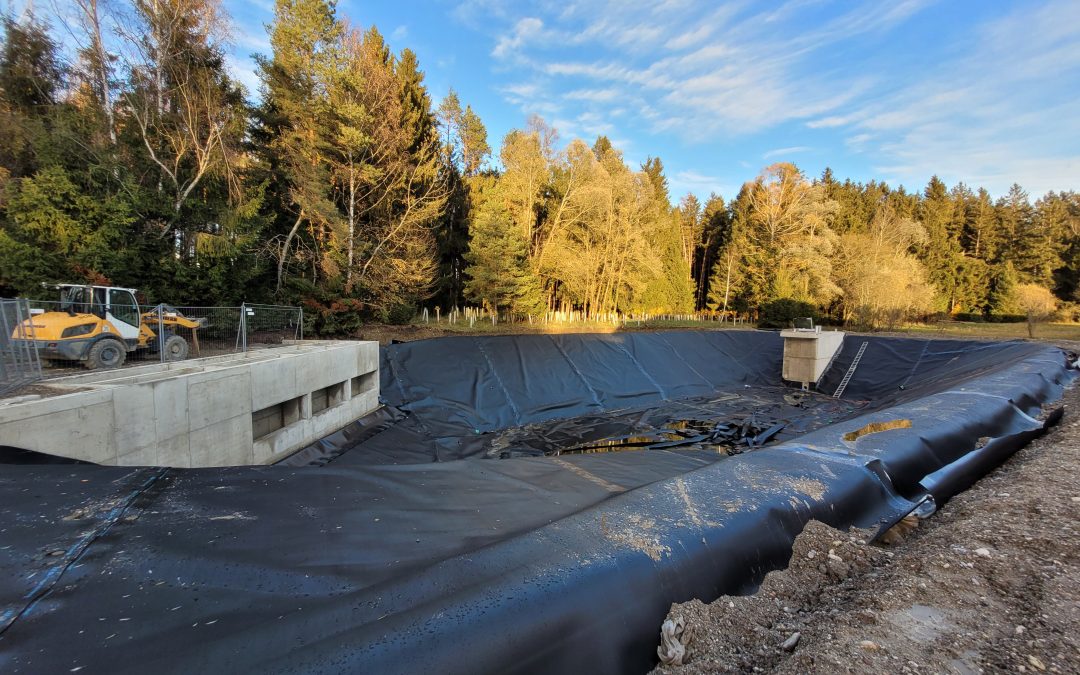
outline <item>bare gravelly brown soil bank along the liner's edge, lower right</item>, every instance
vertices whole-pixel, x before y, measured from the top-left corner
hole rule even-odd
[[[893,545],[811,523],[755,595],[674,605],[687,653],[658,672],[1080,673],[1080,388],[1063,403]]]

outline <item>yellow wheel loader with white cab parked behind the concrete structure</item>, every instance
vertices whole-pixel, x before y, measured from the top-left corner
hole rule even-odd
[[[139,311],[134,288],[60,284],[58,311],[37,312],[24,322],[23,335],[32,329],[33,347],[45,361],[78,361],[87,368],[119,368],[130,352],[162,351],[166,361],[188,357],[188,341],[178,334],[195,330],[204,319],[188,319],[161,306]],[[160,324],[159,324],[160,316]],[[156,330],[159,329],[159,335]],[[21,337],[21,336],[19,336]],[[15,335],[12,336],[16,338]]]

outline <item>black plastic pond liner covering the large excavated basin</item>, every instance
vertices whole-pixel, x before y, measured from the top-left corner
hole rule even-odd
[[[386,349],[387,406],[275,467],[0,449],[0,671],[642,672],[672,603],[753,591],[811,518],[944,502],[1074,376],[1038,343],[848,336],[804,395],[781,352],[444,338]]]

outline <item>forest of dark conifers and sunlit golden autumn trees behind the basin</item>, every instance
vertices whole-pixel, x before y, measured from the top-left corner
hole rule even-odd
[[[218,0],[71,3],[64,44],[46,17],[3,18],[0,296],[89,282],[302,305],[323,335],[467,303],[1075,319],[1074,191],[906,191],[778,163],[727,200],[672,195],[659,157],[631,166],[539,118],[492,148],[453,91],[433,104],[414,52],[330,0],[275,1],[257,92],[228,72]]]

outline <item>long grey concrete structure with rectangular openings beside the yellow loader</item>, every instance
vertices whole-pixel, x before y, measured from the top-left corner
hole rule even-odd
[[[0,405],[0,445],[99,464],[268,464],[378,406],[377,342],[303,341],[94,372]]]

